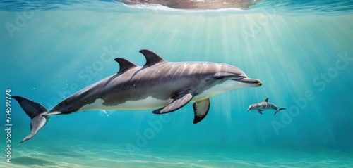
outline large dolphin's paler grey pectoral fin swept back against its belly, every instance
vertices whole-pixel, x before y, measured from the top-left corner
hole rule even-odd
[[[193,95],[191,93],[185,93],[185,94],[175,96],[172,103],[170,103],[169,105],[163,108],[154,110],[153,113],[164,114],[167,112],[173,112],[175,110],[178,110],[179,108],[182,108],[187,103],[189,103],[189,101],[191,101],[192,98],[193,98]]]

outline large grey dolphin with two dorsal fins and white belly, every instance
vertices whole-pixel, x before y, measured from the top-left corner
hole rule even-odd
[[[193,102],[196,124],[207,115],[210,97],[232,89],[261,86],[238,67],[208,62],[167,62],[156,53],[141,50],[145,65],[138,66],[124,58],[115,58],[116,74],[74,93],[51,110],[27,98],[13,96],[32,119],[27,141],[44,127],[51,115],[67,115],[88,110],[156,109],[164,114]]]

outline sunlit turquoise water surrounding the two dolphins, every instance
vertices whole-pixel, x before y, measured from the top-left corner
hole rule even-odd
[[[198,124],[191,104],[167,115],[80,112],[51,117],[25,143],[30,118],[12,101],[11,163],[3,150],[0,167],[353,167],[352,1],[316,3],[261,1],[248,11],[1,3],[1,88],[48,109],[117,72],[116,57],[143,65],[140,49],[235,65],[263,86],[213,96]],[[267,97],[287,110],[246,112]]]

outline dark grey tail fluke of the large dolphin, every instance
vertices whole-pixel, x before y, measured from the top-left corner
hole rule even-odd
[[[40,103],[35,103],[34,101],[31,101],[27,98],[20,96],[12,96],[12,98],[18,101],[21,108],[31,119],[30,134],[23,138],[22,141],[20,141],[20,143],[23,143],[24,141],[27,141],[28,139],[35,136],[35,134],[37,134],[37,132],[40,131],[40,129],[42,129],[42,127],[44,127],[44,125],[48,122],[49,116],[44,115],[48,112],[48,110],[44,108],[43,105],[40,105]]]

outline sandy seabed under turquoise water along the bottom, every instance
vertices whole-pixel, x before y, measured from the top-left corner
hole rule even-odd
[[[353,167],[352,154],[278,150],[128,150],[102,143],[40,143],[13,148],[5,167]],[[350,156],[349,156],[350,155]],[[0,166],[1,167],[1,166]]]

